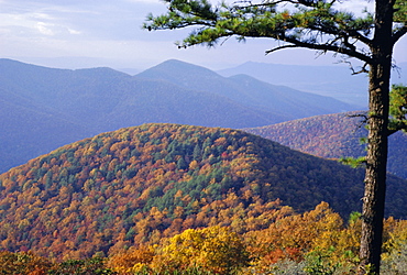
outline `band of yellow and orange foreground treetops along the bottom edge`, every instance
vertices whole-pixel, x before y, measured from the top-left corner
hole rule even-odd
[[[187,229],[109,256],[55,258],[32,252],[0,252],[1,274],[355,274],[360,215],[344,222],[321,202],[302,215],[289,207],[270,212],[273,222],[238,233],[233,227]],[[385,220],[382,274],[407,272],[407,221]]]

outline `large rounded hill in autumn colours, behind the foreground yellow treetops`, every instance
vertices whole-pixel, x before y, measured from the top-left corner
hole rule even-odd
[[[363,170],[242,131],[143,124],[82,140],[0,175],[0,249],[53,258],[107,255],[186,229],[268,228],[327,201],[360,210]],[[406,218],[389,178],[387,216]]]

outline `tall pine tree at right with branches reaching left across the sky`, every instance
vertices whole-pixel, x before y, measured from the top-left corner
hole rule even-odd
[[[268,50],[304,47],[333,52],[361,61],[356,73],[369,73],[369,146],[363,197],[361,274],[380,273],[384,201],[386,191],[389,79],[393,48],[407,32],[405,0],[376,0],[375,11],[355,16],[341,11],[346,1],[264,0],[212,6],[207,0],[165,0],[168,12],[147,18],[147,30],[193,26],[179,47],[213,46],[219,40],[237,36],[270,37],[282,42]],[[348,1],[349,3],[350,1]],[[369,2],[369,1],[366,1]]]

